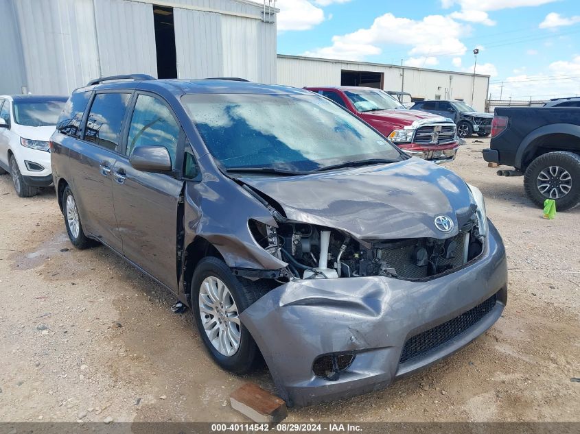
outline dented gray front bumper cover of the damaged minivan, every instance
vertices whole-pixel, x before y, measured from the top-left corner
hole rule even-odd
[[[476,310],[489,311],[428,352],[401,361],[406,341]],[[450,274],[410,281],[382,276],[292,280],[240,315],[259,346],[280,396],[304,406],[382,389],[427,367],[481,335],[507,301],[507,265],[500,236],[489,224],[484,252]],[[475,309],[474,309],[475,308]],[[354,354],[334,381],[316,376],[324,354]]]

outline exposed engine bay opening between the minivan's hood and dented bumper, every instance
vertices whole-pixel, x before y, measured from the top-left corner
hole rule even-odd
[[[273,228],[250,221],[254,238],[288,263],[296,278],[388,276],[429,278],[471,261],[483,251],[478,219],[448,239],[397,239],[359,242],[340,230],[286,221]]]

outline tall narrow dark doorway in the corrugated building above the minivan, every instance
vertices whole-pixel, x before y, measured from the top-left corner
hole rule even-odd
[[[153,5],[157,78],[177,78],[173,8]]]

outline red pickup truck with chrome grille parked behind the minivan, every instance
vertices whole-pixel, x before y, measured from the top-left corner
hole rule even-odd
[[[459,143],[445,117],[407,110],[385,91],[360,86],[308,87],[366,121],[411,156],[433,162],[454,160]]]

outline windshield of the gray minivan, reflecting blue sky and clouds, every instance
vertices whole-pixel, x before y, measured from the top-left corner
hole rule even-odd
[[[401,154],[357,117],[318,95],[182,97],[209,152],[226,169],[312,171]]]

